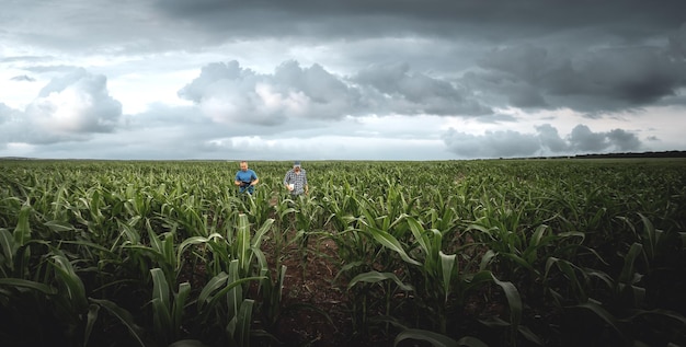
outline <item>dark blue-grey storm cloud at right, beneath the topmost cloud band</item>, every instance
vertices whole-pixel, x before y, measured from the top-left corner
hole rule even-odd
[[[613,112],[647,106],[686,86],[686,60],[654,47],[563,56],[534,45],[494,50],[465,83],[495,103],[523,108]]]

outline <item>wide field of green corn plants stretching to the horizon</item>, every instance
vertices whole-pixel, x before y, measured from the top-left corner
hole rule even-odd
[[[0,165],[3,345],[686,345],[684,160]]]

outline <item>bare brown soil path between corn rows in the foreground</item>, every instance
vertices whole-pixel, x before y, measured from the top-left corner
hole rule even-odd
[[[276,204],[276,198],[270,204],[272,206]],[[285,229],[284,240],[295,240],[296,231],[293,228]],[[305,253],[306,261],[301,246],[297,243],[290,242],[282,250],[276,250],[274,240],[265,239],[261,244],[271,271],[275,273],[281,265],[287,267],[282,292],[283,311],[275,325],[265,329],[277,342],[264,338],[264,346],[393,346],[397,332],[363,335],[353,327],[350,311],[352,303],[348,301],[346,284],[335,281],[341,269],[335,242],[323,236],[310,236]],[[501,303],[482,300],[484,294],[478,293],[468,299],[464,313],[470,316],[484,312],[498,315],[504,311]],[[261,328],[260,324],[256,328]],[[431,346],[431,344],[405,339],[398,346]]]

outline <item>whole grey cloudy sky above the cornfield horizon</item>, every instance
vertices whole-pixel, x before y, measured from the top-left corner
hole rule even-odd
[[[0,157],[686,150],[684,0],[4,0]]]

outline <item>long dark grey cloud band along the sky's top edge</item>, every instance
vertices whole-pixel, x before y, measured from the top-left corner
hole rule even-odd
[[[156,5],[184,24],[230,31],[239,36],[343,37],[469,35],[489,39],[526,37],[598,25],[618,35],[648,34],[636,27],[674,28],[686,5],[681,0],[159,0]],[[652,33],[651,33],[652,34]]]

